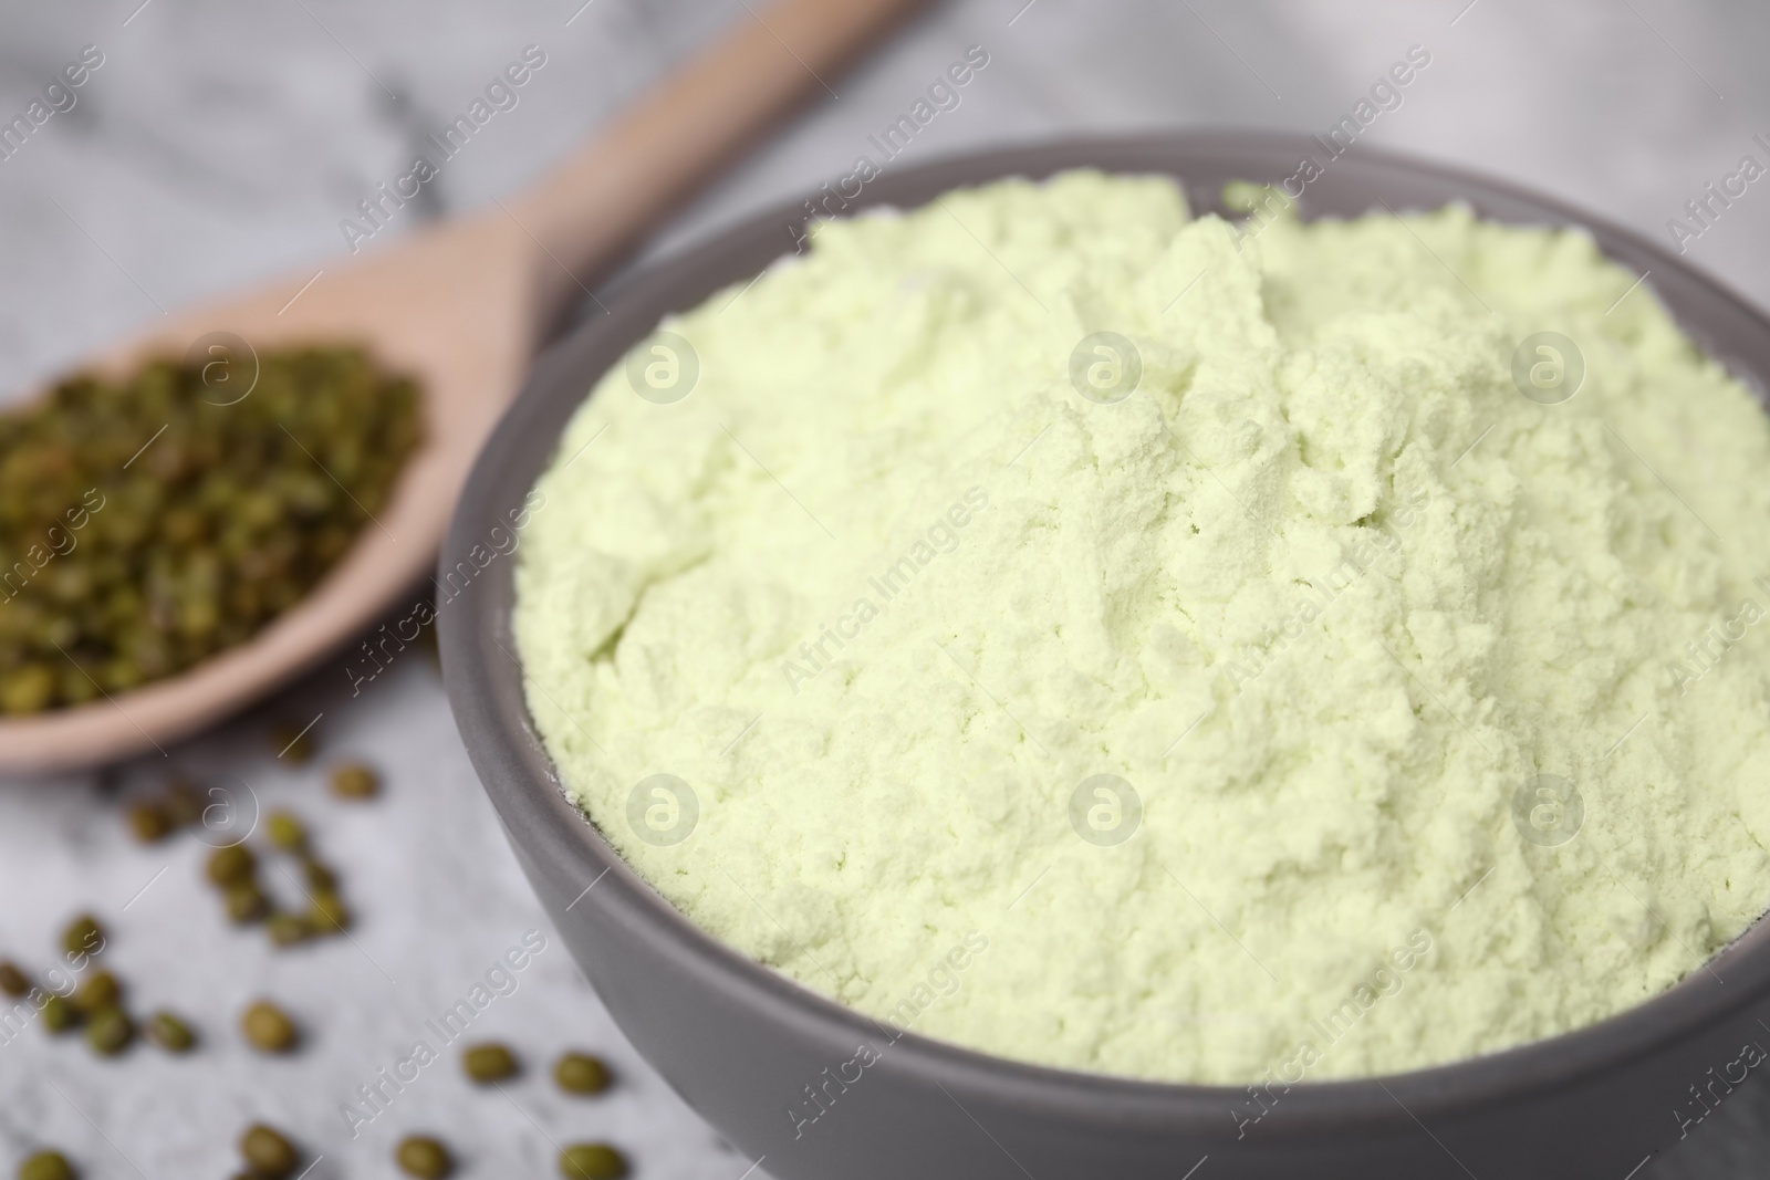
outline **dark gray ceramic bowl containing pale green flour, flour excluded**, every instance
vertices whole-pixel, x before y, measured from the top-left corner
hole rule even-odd
[[[1280,180],[1304,154],[1326,159],[1303,136],[1080,140],[890,172],[855,203],[910,207],[952,186],[1092,165],[1175,175],[1197,207],[1211,209],[1225,180]],[[1395,209],[1466,200],[1501,221],[1584,225],[1612,258],[1651,271],[1653,290],[1713,356],[1754,389],[1770,384],[1761,315],[1669,253],[1558,202],[1356,147],[1326,165],[1303,209],[1356,216],[1379,198]],[[791,249],[802,221],[802,207],[782,207],[632,278],[605,297],[611,315],[549,350],[462,495],[444,584],[522,502],[591,382],[666,311]],[[1758,1019],[1770,1019],[1765,925],[1713,971],[1611,1021],[1441,1069],[1303,1083],[1244,1136],[1234,1115],[1250,1100],[1244,1090],[1041,1069],[917,1035],[889,1044],[874,1023],[690,925],[566,801],[524,704],[512,564],[492,561],[439,609],[467,752],[535,890],[621,1028],[690,1106],[782,1180],[1623,1180],[1724,1100],[1743,1046],[1770,1046],[1770,1024]],[[881,1060],[853,1084],[827,1084],[864,1042],[885,1049]],[[830,1095],[830,1109],[795,1134],[788,1109],[812,1084]]]

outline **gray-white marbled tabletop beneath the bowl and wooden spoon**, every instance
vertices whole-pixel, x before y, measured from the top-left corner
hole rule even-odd
[[[81,46],[104,55],[76,104],[0,161],[0,387],[25,391],[163,308],[326,265],[354,203],[524,46],[542,46],[547,65],[520,104],[388,235],[513,191],[735,19],[749,19],[742,0],[0,0],[0,117],[23,113]],[[1671,241],[1666,221],[1706,182],[1747,152],[1770,159],[1752,142],[1770,134],[1770,74],[1756,60],[1766,34],[1770,9],[1747,0],[961,0],[834,80],[837,97],[648,251],[846,172],[970,44],[988,48],[988,69],[906,161],[1089,131],[1324,131],[1421,44],[1430,69],[1370,143],[1512,177]],[[1759,188],[1687,246],[1696,265],[1770,304]],[[278,759],[273,722],[315,715],[320,762]],[[347,805],[320,789],[320,764],[343,755],[384,770],[382,800]],[[198,839],[129,842],[117,801],[172,764],[242,805],[308,817],[345,872],[352,939],[273,952],[219,920]],[[464,1176],[550,1175],[552,1143],[584,1138],[625,1146],[639,1176],[738,1180],[750,1166],[632,1053],[547,932],[419,655],[356,699],[342,667],[324,667],[170,759],[0,784],[0,955],[42,966],[81,908],[110,923],[106,954],[138,1007],[188,1012],[205,1046],[188,1060],[136,1049],[97,1061],[41,1030],[0,1044],[0,1168],[57,1143],[92,1178],[227,1175],[255,1118],[320,1157],[315,1180],[395,1175],[391,1143],[418,1129],[448,1136]],[[527,931],[547,948],[476,1024],[524,1051],[527,1076],[481,1093],[439,1063],[352,1139],[340,1106]],[[260,994],[301,1017],[301,1054],[267,1061],[239,1047],[235,1014]],[[542,1074],[563,1046],[605,1053],[620,1086],[602,1100],[558,1095]],[[1752,1083],[1639,1176],[1751,1176],[1766,1155],[1770,1097]]]

